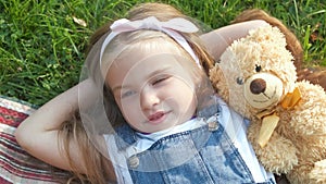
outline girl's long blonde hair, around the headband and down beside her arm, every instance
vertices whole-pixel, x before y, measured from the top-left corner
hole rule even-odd
[[[164,11],[161,11],[164,10]],[[135,20],[142,20],[148,16],[155,16],[159,21],[167,21],[174,17],[184,17],[188,19],[186,15],[184,15],[181,12],[176,10],[175,8],[162,4],[162,3],[143,3],[140,4],[133,10],[129,11],[127,19],[130,21]],[[189,19],[188,19],[189,20]],[[93,36],[90,39],[90,49],[89,49],[89,56],[90,53],[93,53],[99,41],[102,40],[103,37],[105,37],[109,33],[109,26],[110,24],[104,25],[103,27],[99,28]],[[150,32],[153,30],[140,30],[138,33],[126,33],[121,34],[115,38],[116,42],[115,45],[120,45],[122,39],[125,39],[125,36],[133,37],[131,40],[141,40],[139,37],[158,37],[159,34],[151,34]],[[158,32],[156,32],[158,33]],[[198,35],[195,34],[185,34],[179,33],[184,38],[187,40],[189,46],[192,48],[195,54],[199,58],[202,68],[208,73],[210,68],[213,66],[213,59],[211,56],[206,52],[203,45],[201,44],[201,40]],[[151,36],[149,36],[151,35]],[[155,35],[155,36],[154,36]],[[149,37],[148,37],[149,36]],[[159,37],[167,38],[168,36],[160,35]],[[120,40],[121,39],[121,40]],[[170,38],[171,39],[171,38]],[[129,40],[130,41],[130,40]],[[171,41],[173,41],[171,39]],[[114,44],[110,45],[108,49],[114,48]],[[105,111],[108,114],[108,118],[111,122],[115,122],[117,124],[124,123],[124,119],[122,116],[121,111],[118,110],[114,97],[111,94],[110,89],[105,86],[103,86],[103,77],[101,76],[101,66],[99,63],[98,54],[95,54],[96,57],[93,59],[87,60],[87,66],[90,72],[90,76],[95,79],[97,84],[100,84],[102,86],[99,86],[100,90],[103,90],[103,97],[104,97],[104,105],[105,105]],[[195,63],[195,62],[193,62]],[[205,85],[200,85],[201,91],[204,91]],[[199,90],[199,91],[200,91]],[[201,95],[199,96],[201,97]],[[114,120],[114,121],[112,121]],[[86,168],[86,173],[80,174],[76,170],[76,164],[71,161],[71,170],[74,174],[74,177],[71,179],[77,179],[79,183],[108,183],[108,181],[114,181],[115,175],[113,171],[112,163],[110,160],[108,160],[103,155],[97,150],[97,148],[90,143],[86,135],[86,131],[83,127],[83,124],[80,122],[80,119],[76,116],[74,120],[66,122],[62,131],[60,133],[60,139],[63,139],[62,143],[62,149],[63,152],[66,155],[66,157],[72,160],[68,152],[70,143],[72,140],[76,142],[78,144],[79,149],[82,150],[82,158],[83,158],[83,165]],[[72,182],[73,183],[73,182]]]

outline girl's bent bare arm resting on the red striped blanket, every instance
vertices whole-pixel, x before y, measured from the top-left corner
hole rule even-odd
[[[54,167],[71,170],[68,159],[59,146],[63,140],[59,139],[59,131],[63,122],[71,120],[78,108],[78,90],[83,90],[84,97],[89,100],[96,89],[91,79],[86,79],[57,96],[35,113],[22,122],[15,132],[17,143],[34,157]],[[80,162],[80,149],[75,140],[71,142],[70,154],[77,170],[85,173],[85,165]]]

